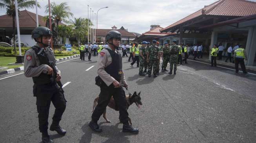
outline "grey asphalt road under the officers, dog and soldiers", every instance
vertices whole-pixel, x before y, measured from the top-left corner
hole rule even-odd
[[[60,122],[67,134],[62,137],[49,131],[55,143],[256,142],[255,73],[235,74],[226,68],[188,61],[178,66],[176,75],[161,72],[156,78],[148,78],[139,76],[138,68],[132,68],[126,57],[123,69],[129,91],[141,91],[141,108],[134,104],[128,110],[133,126],[140,132],[123,133],[119,113],[108,108],[107,118],[112,122],[106,123],[101,117],[98,123],[103,132],[95,133],[88,123],[100,89],[94,84],[97,59],[91,60],[78,58],[57,65],[62,83],[70,83],[64,87],[68,102]],[[0,80],[0,143],[41,141],[32,86],[32,79],[24,74]],[[53,104],[50,110],[49,124]]]

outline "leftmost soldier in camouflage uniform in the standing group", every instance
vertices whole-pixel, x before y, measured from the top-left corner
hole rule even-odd
[[[145,73],[143,73],[143,68],[144,68],[144,65],[145,65],[145,62],[146,62],[146,57],[147,57],[146,45],[147,45],[147,42],[143,41],[142,46],[140,47],[140,55],[139,55],[140,70],[139,70],[139,75],[141,75],[141,76],[145,76]]]

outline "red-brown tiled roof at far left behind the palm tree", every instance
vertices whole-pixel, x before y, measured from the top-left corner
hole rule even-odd
[[[36,14],[31,13],[27,10],[19,12],[19,24],[20,28],[35,28],[36,27]],[[45,26],[46,21],[43,20],[44,16],[38,15],[38,23],[41,26]],[[7,14],[0,16],[0,27],[1,28],[12,28],[13,19]],[[16,18],[15,18],[16,27]]]

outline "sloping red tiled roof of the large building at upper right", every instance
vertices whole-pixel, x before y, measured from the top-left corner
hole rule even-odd
[[[166,30],[201,15],[248,16],[256,14],[256,2],[247,0],[219,0],[160,30]]]

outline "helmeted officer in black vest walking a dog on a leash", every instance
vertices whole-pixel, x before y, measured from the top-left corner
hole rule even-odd
[[[97,73],[102,79],[98,105],[95,107],[89,127],[95,132],[102,132],[98,120],[113,96],[119,107],[119,119],[123,123],[123,132],[137,134],[138,129],[128,123],[128,112],[126,110],[125,92],[121,83],[128,87],[122,70],[122,55],[116,50],[119,47],[121,34],[118,31],[109,31],[106,35],[106,47],[100,51],[97,62]]]

